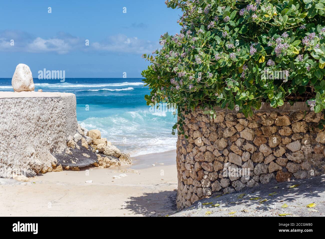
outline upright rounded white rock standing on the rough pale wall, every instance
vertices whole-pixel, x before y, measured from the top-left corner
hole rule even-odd
[[[11,80],[14,91],[33,91],[35,89],[31,69],[28,65],[18,64]]]

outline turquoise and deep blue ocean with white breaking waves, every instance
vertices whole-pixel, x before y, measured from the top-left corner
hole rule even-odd
[[[176,149],[172,112],[151,112],[142,78],[66,78],[39,80],[35,91],[71,92],[77,98],[77,120],[86,129],[99,129],[122,152],[131,156]],[[0,78],[0,91],[13,91],[11,78]]]

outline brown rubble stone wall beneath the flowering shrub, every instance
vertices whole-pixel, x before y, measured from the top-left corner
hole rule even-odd
[[[321,113],[304,102],[273,109],[263,104],[252,117],[217,109],[186,115],[177,141],[177,207],[213,194],[260,184],[305,179],[325,172],[325,131]]]

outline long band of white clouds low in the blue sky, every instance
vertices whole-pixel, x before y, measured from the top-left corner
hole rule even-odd
[[[14,46],[10,46],[11,39],[15,41]],[[72,51],[93,51],[143,54],[151,52],[158,47],[158,42],[154,44],[150,41],[141,40],[137,37],[127,37],[122,34],[109,36],[100,42],[90,41],[89,46],[85,46],[85,39],[62,32],[50,38],[34,37],[28,33],[12,31],[0,32],[0,51],[56,52],[58,54],[67,54]]]

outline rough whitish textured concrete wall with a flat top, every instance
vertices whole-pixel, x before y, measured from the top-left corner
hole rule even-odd
[[[77,130],[72,93],[0,92],[0,177],[54,166]]]

